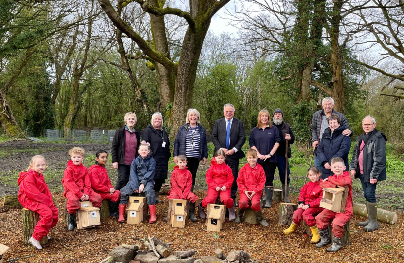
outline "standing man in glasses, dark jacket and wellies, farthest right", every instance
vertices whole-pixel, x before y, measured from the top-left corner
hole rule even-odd
[[[377,223],[377,182],[386,180],[386,136],[377,131],[376,120],[366,116],[362,120],[364,133],[358,137],[358,143],[353,150],[349,170],[352,178],[361,180],[363,194],[366,199],[367,220],[358,225],[363,230],[372,232],[379,229]]]

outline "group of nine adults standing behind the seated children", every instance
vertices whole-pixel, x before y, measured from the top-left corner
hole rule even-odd
[[[351,176],[359,178],[362,183],[369,216],[367,221],[361,225],[367,227],[367,231],[378,229],[375,190],[377,182],[386,179],[386,136],[377,131],[375,119],[366,116],[362,120],[364,133],[357,139],[358,142],[349,165],[348,154],[353,131],[349,127],[347,118],[333,109],[334,100],[331,97],[323,99],[322,107],[322,110],[314,113],[311,124],[312,147],[316,151],[314,165],[320,169],[322,178],[327,178],[331,175],[331,159],[342,158],[346,170],[350,170]],[[215,147],[214,151],[223,150],[226,154],[226,164],[232,169],[235,179],[231,187],[231,198],[234,206],[238,207],[236,179],[239,173],[239,159],[245,157],[242,150],[246,140],[244,124],[234,117],[235,107],[232,104],[224,105],[223,114],[224,117],[216,120],[213,126],[212,142]],[[249,145],[257,151],[257,162],[262,165],[266,176],[264,189],[264,207],[266,208],[272,205],[276,168],[279,172],[282,190],[287,193],[285,202],[290,202],[288,198],[290,170],[286,156],[291,157],[290,145],[294,143],[295,137],[290,124],[284,122],[283,119],[284,113],[281,109],[275,109],[272,114],[263,109],[258,113],[257,127],[254,127],[249,135]],[[138,155],[137,150],[141,143],[140,137],[142,137],[142,141],[150,143],[150,154],[156,160],[154,190],[156,202],[161,203],[159,191],[167,178],[168,161],[171,157],[170,141],[167,131],[163,127],[163,116],[161,113],[154,113],[151,117],[151,124],[142,131],[142,134],[135,129],[136,121],[135,113],[126,113],[125,125],[115,132],[112,141],[112,165],[118,169],[115,188],[119,190],[129,181],[130,165]],[[187,157],[187,166],[192,174],[193,191],[199,163],[202,161],[202,164],[206,164],[208,157],[206,131],[201,125],[200,113],[197,109],[188,110],[185,124],[177,132],[173,150],[174,162],[177,161],[177,156],[180,154]]]

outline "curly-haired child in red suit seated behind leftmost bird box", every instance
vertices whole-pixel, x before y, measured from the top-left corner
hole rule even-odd
[[[62,184],[65,188],[63,196],[67,198],[66,209],[69,213],[69,225],[67,230],[74,229],[74,218],[80,201],[90,201],[94,207],[101,207],[101,196],[91,188],[87,167],[81,162],[84,159],[84,149],[73,147],[69,150],[70,161],[63,173]]]

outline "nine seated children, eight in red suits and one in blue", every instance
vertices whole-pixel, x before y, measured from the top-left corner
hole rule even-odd
[[[107,152],[100,150],[95,155],[95,164],[89,169],[82,164],[84,150],[74,147],[69,150],[71,160],[67,163],[67,168],[63,175],[64,197],[67,198],[66,209],[69,213],[68,230],[74,229],[74,219],[77,209],[80,208],[80,201],[90,201],[94,207],[101,207],[103,199],[110,200],[110,215],[117,217],[118,222],[125,222],[125,210],[129,196],[134,194],[144,194],[150,210],[149,223],[157,221],[156,200],[153,190],[154,169],[156,162],[150,153],[150,145],[141,143],[139,146],[139,156],[132,164],[130,179],[121,191],[115,190],[108,177],[105,164],[107,163]],[[220,201],[228,208],[229,221],[241,223],[245,209],[251,208],[255,211],[258,222],[264,227],[268,223],[264,220],[260,200],[262,190],[265,186],[265,172],[261,165],[257,164],[257,151],[249,149],[247,151],[247,163],[240,169],[237,178],[237,185],[240,191],[239,210],[236,216],[233,200],[230,197],[230,190],[234,178],[232,171],[225,164],[225,153],[222,150],[215,152],[211,161],[211,166],[206,172],[206,182],[208,185],[207,196],[199,204],[200,218],[206,218],[207,204],[215,203],[218,196]],[[187,170],[187,159],[185,155],[177,157],[177,166],[171,175],[171,190],[168,199],[186,199],[190,202],[189,219],[197,222],[195,217],[195,202],[198,200],[192,188],[192,175]],[[29,242],[37,249],[42,249],[40,240],[49,233],[50,228],[58,222],[58,210],[53,204],[52,195],[45,183],[43,172],[46,168],[45,159],[41,155],[31,158],[28,171],[20,173],[18,185],[18,199],[22,206],[37,212],[40,220],[35,226]],[[285,234],[292,233],[302,220],[310,226],[313,238],[311,243],[317,247],[323,247],[329,243],[327,225],[333,219],[332,227],[335,237],[332,245],[327,251],[337,251],[341,248],[341,237],[344,225],[353,215],[352,211],[352,179],[349,172],[344,172],[344,161],[341,158],[334,158],[331,161],[331,171],[335,174],[323,181],[320,181],[320,172],[317,168],[311,167],[308,171],[310,182],[300,191],[299,206],[293,214],[291,226],[284,230]],[[349,194],[345,207],[345,212],[334,213],[330,210],[319,207],[322,197],[322,188],[335,188],[349,186]],[[118,203],[119,201],[119,203]],[[119,213],[117,208],[119,205]],[[315,218],[314,218],[315,216]]]

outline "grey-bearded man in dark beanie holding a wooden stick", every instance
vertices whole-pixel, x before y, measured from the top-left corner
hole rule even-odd
[[[286,140],[289,141],[288,143],[288,158],[291,157],[291,147],[290,145],[294,143],[294,135],[291,130],[291,125],[289,123],[283,122],[283,111],[279,108],[275,109],[274,114],[273,114],[273,121],[271,122],[272,125],[276,126],[279,131],[279,137],[281,138],[280,140],[280,145],[278,147],[278,150],[276,150],[276,156],[277,156],[277,167],[279,171],[279,178],[282,183],[282,191],[285,193],[286,190],[286,200],[284,202],[290,203],[289,200],[289,174],[291,174],[291,171],[289,170],[289,161],[288,161],[288,180],[285,182],[285,169],[286,169]],[[286,186],[285,186],[286,184]]]

